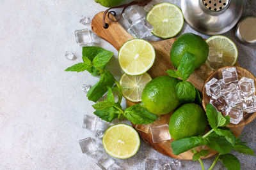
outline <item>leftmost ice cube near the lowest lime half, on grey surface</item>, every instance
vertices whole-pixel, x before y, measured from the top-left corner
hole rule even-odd
[[[81,139],[79,145],[83,153],[86,153],[86,155],[89,155],[90,157],[97,158],[97,147],[94,139],[90,137]]]

